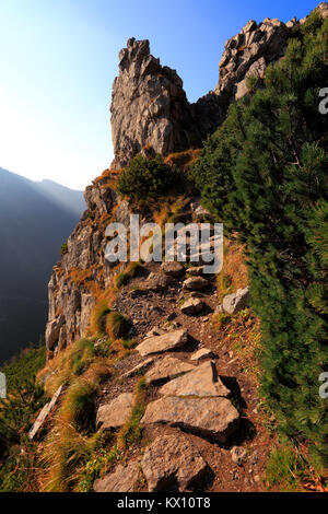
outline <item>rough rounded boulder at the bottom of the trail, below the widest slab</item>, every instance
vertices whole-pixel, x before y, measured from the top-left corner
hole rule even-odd
[[[208,469],[195,444],[178,431],[155,439],[147,448],[141,467],[149,492],[165,491],[171,484],[177,484],[184,492],[201,480]]]

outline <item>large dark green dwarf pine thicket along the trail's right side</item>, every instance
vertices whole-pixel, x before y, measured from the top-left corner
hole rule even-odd
[[[203,205],[245,244],[262,330],[262,393],[280,429],[328,463],[328,20],[294,30],[265,89],[232,105],[194,166]]]

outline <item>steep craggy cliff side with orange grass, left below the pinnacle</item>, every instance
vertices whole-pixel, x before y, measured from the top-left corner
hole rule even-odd
[[[86,187],[87,210],[69,236],[67,252],[52,269],[46,327],[50,358],[86,335],[97,293],[108,287],[113,277],[112,265],[105,259],[105,229],[109,222],[128,226],[130,210],[128,202],[121,201],[109,186],[110,179],[105,174]]]

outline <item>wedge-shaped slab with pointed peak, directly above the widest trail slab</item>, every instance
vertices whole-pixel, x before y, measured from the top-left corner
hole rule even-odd
[[[162,396],[229,396],[230,390],[218,376],[215,364],[207,361],[190,371],[188,375],[178,376],[160,389]]]

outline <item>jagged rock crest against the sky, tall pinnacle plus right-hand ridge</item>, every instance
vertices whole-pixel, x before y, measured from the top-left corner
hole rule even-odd
[[[195,104],[189,104],[177,72],[151,55],[149,40],[130,38],[119,52],[119,74],[113,84],[112,166],[126,166],[140,152],[168,155],[200,148],[224,120],[229,104],[247,93],[247,78],[262,80],[268,65],[284,55],[296,23],[249,21],[225,44],[215,90]]]

